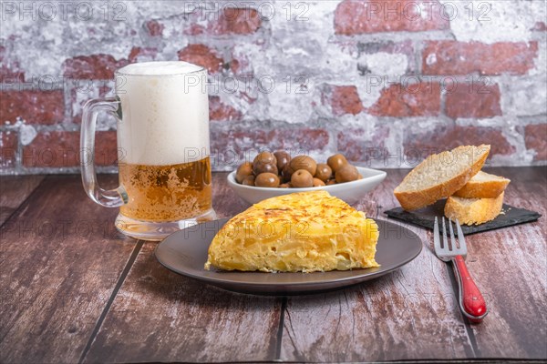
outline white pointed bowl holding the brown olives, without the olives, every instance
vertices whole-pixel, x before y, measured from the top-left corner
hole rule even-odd
[[[332,196],[338,197],[348,204],[356,203],[366,192],[377,187],[386,178],[387,173],[377,169],[357,167],[357,170],[363,176],[353,182],[340,183],[322,187],[305,188],[277,188],[277,187],[253,187],[244,186],[235,180],[235,171],[228,175],[228,185],[233,188],[235,193],[250,204],[255,204],[263,199],[287,195],[294,192],[325,190]]]

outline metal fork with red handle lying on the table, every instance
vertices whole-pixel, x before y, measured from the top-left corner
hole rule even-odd
[[[471,278],[470,272],[463,260],[463,258],[467,256],[467,246],[458,219],[456,219],[456,228],[458,230],[458,241],[456,241],[456,238],[454,237],[452,221],[449,219],[450,244],[449,239],[447,238],[445,218],[442,217],[442,237],[444,244],[441,244],[439,222],[437,221],[437,217],[435,217],[435,226],[433,229],[435,254],[437,254],[439,259],[445,262],[452,262],[454,275],[458,280],[459,308],[471,322],[479,323],[488,314],[488,308],[486,308],[486,302],[484,301],[484,298],[482,298],[480,290],[477,288],[477,285],[475,285],[473,278]]]

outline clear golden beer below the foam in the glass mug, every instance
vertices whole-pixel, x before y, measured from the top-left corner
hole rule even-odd
[[[129,218],[175,221],[212,208],[209,157],[173,166],[120,164],[119,182],[129,199],[120,213]]]

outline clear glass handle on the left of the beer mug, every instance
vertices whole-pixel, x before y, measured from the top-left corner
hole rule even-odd
[[[89,100],[84,106],[80,134],[80,167],[84,189],[93,201],[104,207],[120,207],[127,203],[127,193],[122,187],[103,189],[98,186],[95,172],[95,129],[100,111],[106,111],[119,119],[118,97],[103,97]]]

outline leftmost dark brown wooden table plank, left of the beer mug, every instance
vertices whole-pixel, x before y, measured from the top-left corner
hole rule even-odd
[[[116,214],[86,196],[79,176],[50,176],[5,222],[0,362],[78,361],[135,248]]]

